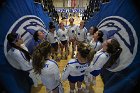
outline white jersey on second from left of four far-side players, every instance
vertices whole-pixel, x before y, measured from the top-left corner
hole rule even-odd
[[[57,33],[60,41],[68,40],[68,30],[66,28],[64,31],[62,29],[58,29]]]

